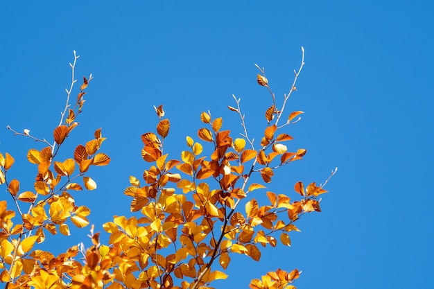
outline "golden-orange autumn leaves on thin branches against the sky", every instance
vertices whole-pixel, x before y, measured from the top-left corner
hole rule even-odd
[[[320,211],[318,196],[327,192],[323,187],[329,179],[323,185],[312,182],[306,188],[297,182],[297,200],[267,191],[268,202],[259,204],[251,193],[266,189],[276,169],[306,154],[303,148],[288,151],[284,143],[293,137],[282,132],[286,125],[300,121],[303,112],[291,112],[280,124],[304,65],[304,49],[302,52],[300,69],[294,71],[293,85],[279,107],[264,69],[257,66],[257,82],[272,98],[257,148],[248,136],[240,99],[234,96],[236,107],[228,108],[241,118],[241,137],[233,139],[229,130],[223,130],[221,117],[213,119],[210,112],[202,112],[200,141],[187,136],[180,159],[171,159],[164,153],[171,123],[164,119],[163,106],[155,107],[159,118],[156,132],[141,135],[141,156],[148,168],[140,178],[130,176],[130,186],[124,191],[132,198],[130,210],[137,213],[130,218],[114,216],[103,225],[110,236],[107,245],[100,243],[100,233],[94,233],[92,226],[91,247],[73,246],[54,256],[35,249],[35,245],[46,240],[46,233],[68,236],[67,220],[80,228],[89,225],[90,210],[76,204],[73,193],[96,189],[88,175],[89,167],[110,163],[110,157],[99,152],[105,141],[101,129],[91,140],[76,146],[73,158],[58,156],[62,143],[78,125],[76,117],[82,112],[85,89],[92,80],[92,74],[83,78],[75,105],[71,105],[78,59],[74,51],[71,87],[60,123],[53,130],[53,141],[8,126],[15,134],[39,141],[44,147],[27,152],[28,161],[37,166],[33,191],[20,191],[19,179],[9,178],[13,157],[7,152],[0,154],[0,184],[6,185],[16,206],[10,209],[10,202],[0,201],[1,282],[7,288],[211,288],[212,281],[227,278],[224,271],[233,254],[259,261],[261,247],[275,247],[279,242],[289,246],[290,231],[299,231],[295,222],[305,213]],[[209,157],[204,154],[203,142],[214,147]],[[334,173],[336,170],[331,175]],[[254,174],[262,181],[253,182]],[[277,269],[252,280],[250,288],[295,288],[291,283],[299,276],[297,269]]]

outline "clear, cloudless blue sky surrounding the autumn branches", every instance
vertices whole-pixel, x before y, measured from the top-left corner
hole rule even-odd
[[[112,157],[110,166],[91,171],[98,189],[76,195],[101,228],[113,215],[129,214],[123,189],[129,175],[146,168],[140,135],[155,128],[153,105],[164,104],[171,119],[166,144],[173,157],[186,134],[198,140],[204,110],[241,132],[227,110],[232,94],[260,134],[270,98],[256,83],[254,63],[283,96],[304,46],[306,66],[288,105],[306,113],[288,133],[291,146],[308,153],[269,189],[293,193],[297,181],[324,182],[336,166],[338,173],[322,213],[300,221],[292,247],[264,251],[260,265],[234,258],[229,280],[216,286],[247,288],[270,270],[299,268],[297,288],[431,288],[433,13],[434,4],[422,0],[5,2],[0,151],[15,157],[15,177],[31,173],[31,188],[26,151],[37,144],[12,137],[6,125],[51,136],[75,49],[77,75],[93,73],[94,80],[68,141],[72,148],[102,127],[102,150]],[[62,242],[73,245],[87,233],[73,231]]]

